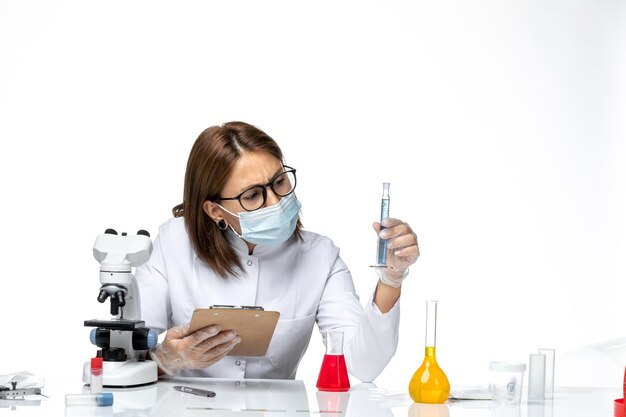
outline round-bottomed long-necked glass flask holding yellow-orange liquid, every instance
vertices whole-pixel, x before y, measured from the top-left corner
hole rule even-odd
[[[450,395],[448,377],[435,356],[436,336],[437,301],[426,301],[426,353],[409,383],[409,395],[416,403],[442,404]]]

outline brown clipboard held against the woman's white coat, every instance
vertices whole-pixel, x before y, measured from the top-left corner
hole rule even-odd
[[[189,333],[212,325],[220,326],[222,331],[235,330],[241,342],[227,356],[265,356],[279,317],[278,311],[261,307],[197,308],[191,316]]]

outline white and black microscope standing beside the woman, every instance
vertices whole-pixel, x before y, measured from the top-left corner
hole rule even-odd
[[[103,360],[105,387],[134,387],[156,382],[157,365],[145,360],[149,349],[157,344],[158,335],[141,320],[141,304],[137,280],[131,272],[148,261],[152,240],[145,230],[128,236],[107,229],[96,238],[93,256],[100,263],[100,292],[98,301],[111,303],[109,320],[85,320],[86,327],[94,327],[91,343],[96,345]],[[83,366],[83,382],[90,381],[90,362]]]

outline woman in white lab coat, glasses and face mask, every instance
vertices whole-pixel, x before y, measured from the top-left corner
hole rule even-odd
[[[418,256],[409,225],[386,219],[387,264],[365,308],[339,249],[304,231],[296,170],[272,138],[242,122],[213,126],[194,143],[183,203],[137,268],[146,327],[167,334],[150,356],[160,373],[293,379],[313,325],[344,332],[349,372],[372,381],[398,343],[400,286]],[[193,310],[258,305],[280,312],[267,355],[226,356],[241,340],[209,326],[189,333]]]

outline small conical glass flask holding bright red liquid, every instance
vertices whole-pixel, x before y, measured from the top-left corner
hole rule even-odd
[[[343,332],[324,332],[326,354],[322,361],[320,375],[317,378],[317,389],[320,391],[348,391],[350,380],[346,358],[343,356]]]

